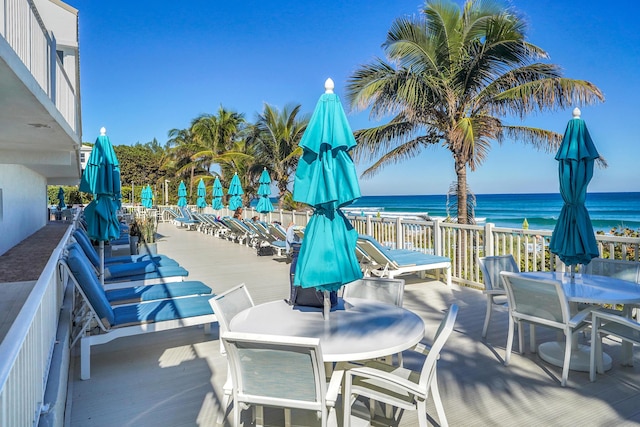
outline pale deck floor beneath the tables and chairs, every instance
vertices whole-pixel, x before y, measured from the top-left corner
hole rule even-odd
[[[159,250],[187,268],[190,280],[202,280],[216,293],[245,282],[257,304],[288,296],[288,264],[170,224],[161,224],[160,232],[164,237]],[[619,366],[620,346],[605,340],[614,368],[599,375],[595,383],[589,382],[588,373],[572,371],[568,386],[562,388],[560,368],[530,352],[514,354],[511,365],[503,365],[506,313],[494,315],[486,342],[480,340],[485,300],[479,291],[450,289],[437,281],[408,276],[404,306],[425,320],[427,342],[453,302],[460,306],[459,316],[438,365],[450,425],[640,423],[637,350],[635,367],[623,368]],[[539,342],[554,337],[555,332],[539,328]],[[405,357],[405,363],[410,365],[412,359]],[[121,338],[94,347],[91,367],[91,379],[80,381],[76,358],[67,420],[71,426],[215,425],[226,379],[217,330],[211,336],[192,327]],[[429,408],[435,414],[433,406]],[[226,425],[231,425],[231,418]],[[268,412],[266,421],[281,423],[278,413]],[[415,414],[405,413],[399,425],[416,424]]]

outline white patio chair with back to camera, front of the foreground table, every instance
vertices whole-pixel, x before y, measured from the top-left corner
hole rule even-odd
[[[291,409],[314,411],[323,427],[337,425],[342,372],[334,372],[327,386],[318,338],[225,332],[222,340],[233,376],[233,425],[240,425],[244,405],[284,408],[285,426],[291,425]]]

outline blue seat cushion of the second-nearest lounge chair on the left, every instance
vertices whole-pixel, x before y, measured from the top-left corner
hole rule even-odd
[[[202,282],[186,281],[159,285],[134,286],[106,291],[110,303],[128,304],[193,295],[210,295],[211,288]]]

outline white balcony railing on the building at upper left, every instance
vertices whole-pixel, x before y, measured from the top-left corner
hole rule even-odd
[[[29,0],[0,0],[0,35],[16,52],[71,129],[78,131],[78,102],[73,84],[56,54],[40,14]]]

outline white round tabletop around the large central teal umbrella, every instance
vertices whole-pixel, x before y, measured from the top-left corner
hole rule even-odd
[[[320,338],[325,362],[384,357],[416,345],[424,337],[424,322],[395,305],[359,298],[338,299],[325,320],[321,308],[290,306],[273,301],[238,313],[229,325],[234,332]]]

